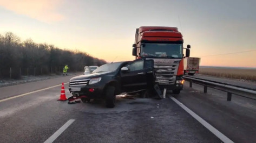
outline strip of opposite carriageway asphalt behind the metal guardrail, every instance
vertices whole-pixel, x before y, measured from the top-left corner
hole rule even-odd
[[[186,75],[186,76],[189,76],[189,75]],[[251,81],[241,81],[238,79],[220,78],[220,77],[213,77],[213,76],[200,75],[200,74],[195,74],[190,77],[196,77],[196,78],[202,78],[205,80],[233,84],[233,85],[238,85],[240,87],[251,88],[256,90],[256,82],[251,82]]]

